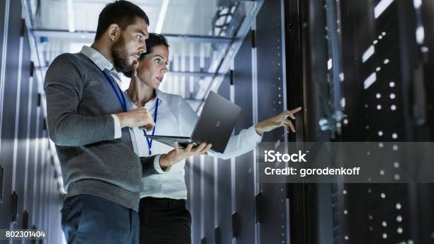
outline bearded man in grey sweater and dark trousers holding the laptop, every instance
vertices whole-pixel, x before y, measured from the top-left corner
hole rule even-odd
[[[127,111],[118,72],[146,52],[149,19],[128,1],[100,13],[96,37],[79,53],[55,58],[45,75],[48,132],[56,145],[67,195],[67,243],[138,243],[143,175],[164,174],[197,149],[138,157],[129,128],[152,128],[146,109]],[[209,148],[208,148],[209,149]]]

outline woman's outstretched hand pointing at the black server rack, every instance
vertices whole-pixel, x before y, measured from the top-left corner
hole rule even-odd
[[[295,119],[294,113],[301,110],[301,107],[292,110],[286,110],[277,116],[261,121],[255,125],[255,130],[258,135],[262,135],[264,132],[272,131],[275,128],[285,126],[288,131],[291,130],[295,133],[295,128],[289,118]],[[288,118],[289,117],[289,118]]]

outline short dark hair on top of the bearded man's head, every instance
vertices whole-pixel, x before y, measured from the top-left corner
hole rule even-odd
[[[107,4],[99,13],[95,40],[101,38],[101,35],[111,24],[116,23],[122,30],[125,30],[135,22],[135,18],[143,18],[149,26],[148,16],[137,5],[129,1],[115,1],[112,4]]]

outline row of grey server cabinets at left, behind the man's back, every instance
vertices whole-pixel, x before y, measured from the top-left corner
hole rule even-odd
[[[40,103],[33,40],[24,20],[26,8],[21,1],[6,0],[0,3],[0,13],[0,228],[39,229],[49,233],[40,243],[61,243],[62,195]]]

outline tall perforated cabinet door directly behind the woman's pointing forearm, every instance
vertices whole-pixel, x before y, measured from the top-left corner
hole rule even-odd
[[[257,111],[262,121],[286,108],[284,77],[284,38],[282,38],[282,1],[265,1],[256,19]],[[265,133],[263,142],[285,143],[284,128]],[[261,152],[258,152],[261,153]],[[286,185],[260,184],[258,200],[260,241],[286,243]]]

